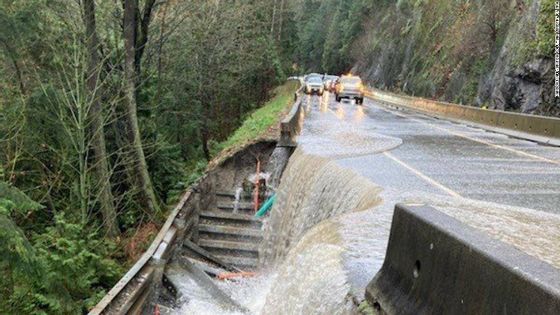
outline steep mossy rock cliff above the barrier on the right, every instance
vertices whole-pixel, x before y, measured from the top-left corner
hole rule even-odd
[[[353,72],[373,86],[442,101],[560,116],[554,2],[377,1]]]

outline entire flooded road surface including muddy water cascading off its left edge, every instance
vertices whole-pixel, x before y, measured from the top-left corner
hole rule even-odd
[[[303,104],[299,146],[264,224],[262,276],[219,283],[251,313],[356,312],[396,203],[432,205],[560,268],[560,148],[371,100]]]

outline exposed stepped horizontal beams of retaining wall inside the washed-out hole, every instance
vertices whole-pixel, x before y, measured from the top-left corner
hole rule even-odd
[[[222,272],[223,265],[254,270],[262,241],[262,222],[254,218],[253,201],[246,196],[236,206],[235,193],[228,191],[218,192],[215,200],[213,208],[200,212],[198,243],[185,244],[187,256],[212,265],[205,269],[209,274]],[[211,261],[208,257],[212,257]]]

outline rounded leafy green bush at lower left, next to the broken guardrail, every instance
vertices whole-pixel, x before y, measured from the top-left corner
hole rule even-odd
[[[56,215],[54,223],[45,233],[35,234],[33,241],[48,270],[50,286],[58,294],[53,299],[47,291],[35,298],[48,301],[53,313],[82,313],[97,303],[124,270],[111,259],[115,243],[87,231],[82,224],[68,222],[63,214]]]

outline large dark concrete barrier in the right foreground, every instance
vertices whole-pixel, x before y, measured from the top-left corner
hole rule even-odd
[[[560,270],[430,206],[398,204],[366,299],[388,314],[560,314]]]

